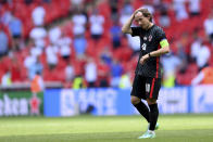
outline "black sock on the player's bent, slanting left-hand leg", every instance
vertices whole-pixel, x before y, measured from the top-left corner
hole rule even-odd
[[[149,117],[149,108],[147,107],[147,105],[145,103],[142,103],[140,101],[140,103],[134,105],[138,112],[147,119],[147,121],[149,122],[150,117]]]

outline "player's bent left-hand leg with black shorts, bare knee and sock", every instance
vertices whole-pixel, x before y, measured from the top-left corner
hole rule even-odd
[[[130,93],[130,102],[137,108],[137,111],[147,119],[149,122],[149,108],[145,103],[141,102],[141,99],[146,98],[145,92],[145,80],[138,75],[135,76],[133,90]]]

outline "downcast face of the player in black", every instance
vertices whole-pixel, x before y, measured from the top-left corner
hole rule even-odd
[[[149,18],[148,17],[145,17],[141,12],[138,12],[135,15],[135,22],[139,26],[141,26],[143,29],[146,29],[149,26],[149,24],[150,24]]]

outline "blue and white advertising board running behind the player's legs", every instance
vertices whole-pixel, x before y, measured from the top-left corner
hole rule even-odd
[[[0,108],[7,101],[0,98]],[[130,89],[50,89],[45,101],[45,115],[49,117],[138,114],[130,104]],[[158,104],[161,114],[213,113],[213,86],[161,88]]]

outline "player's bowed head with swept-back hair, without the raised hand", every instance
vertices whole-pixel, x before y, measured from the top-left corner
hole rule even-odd
[[[152,23],[152,15],[147,9],[141,9],[135,14],[135,22],[143,29],[147,29]]]

